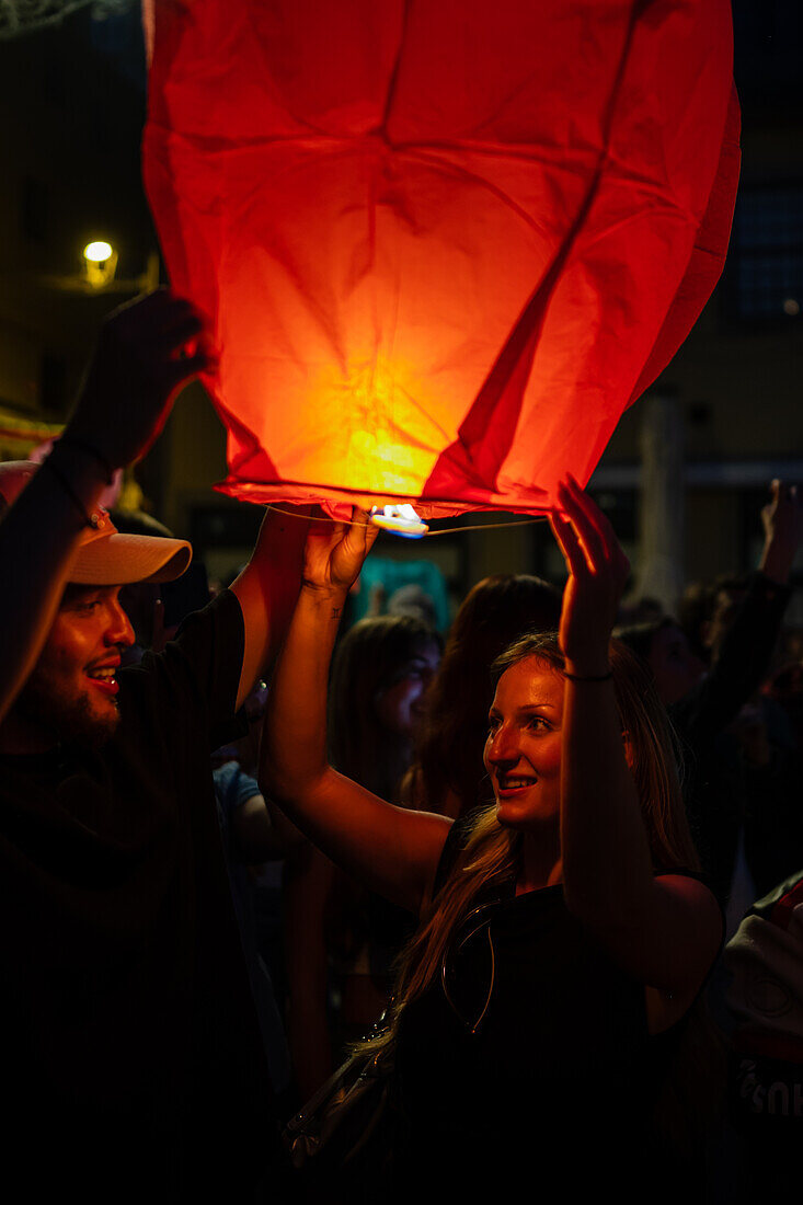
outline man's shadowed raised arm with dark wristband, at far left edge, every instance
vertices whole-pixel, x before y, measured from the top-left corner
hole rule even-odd
[[[147,452],[182,386],[212,368],[201,317],[165,289],[105,321],[64,434],[0,521],[0,722],[42,649],[113,471]]]

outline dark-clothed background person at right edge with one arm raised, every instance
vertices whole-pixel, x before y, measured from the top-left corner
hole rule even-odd
[[[728,905],[728,934],[801,858],[801,783],[790,776],[789,730],[760,688],[791,596],[803,533],[795,486],[773,481],[761,511],[755,572],[720,583],[699,629],[708,664],[672,618],[616,629],[649,664],[684,754],[684,797],[703,869]]]

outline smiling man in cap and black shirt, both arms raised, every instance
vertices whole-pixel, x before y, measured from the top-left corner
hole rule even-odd
[[[231,589],[121,671],[121,586],[192,551],[99,506],[213,370],[206,342],[165,290],[117,311],[51,454],[0,465],[0,1158],[20,1200],[286,1199],[209,754],[282,636],[305,524],[269,512]]]

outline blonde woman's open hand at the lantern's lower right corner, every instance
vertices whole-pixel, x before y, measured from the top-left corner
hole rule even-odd
[[[550,523],[565,558],[559,642],[578,675],[608,672],[608,643],[631,570],[609,519],[570,475],[558,486],[563,515]]]

